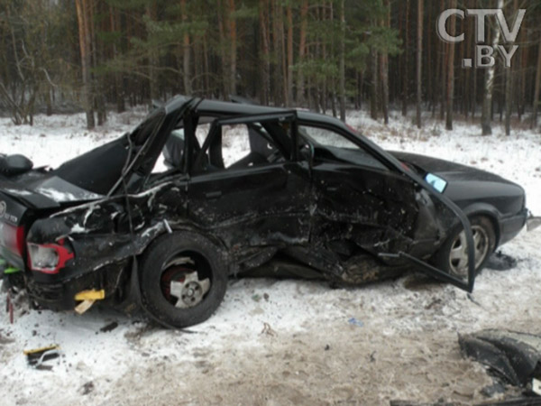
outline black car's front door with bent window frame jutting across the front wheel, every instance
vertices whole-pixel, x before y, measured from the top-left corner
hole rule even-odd
[[[385,263],[409,263],[431,276],[472,291],[475,279],[472,231],[460,208],[390,153],[352,134],[350,129],[317,122],[300,125],[298,132],[308,141],[313,164],[314,245],[328,246],[329,242],[338,240],[347,247],[353,242]],[[315,129],[311,134],[310,128]],[[333,138],[334,141],[328,142]],[[442,238],[460,225],[468,246],[466,278],[426,263],[427,255],[441,245]]]

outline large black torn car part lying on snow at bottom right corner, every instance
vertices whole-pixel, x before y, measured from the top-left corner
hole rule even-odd
[[[538,387],[541,380],[541,336],[487,329],[459,335],[458,342],[463,355],[487,365],[489,371],[506,382],[530,391]]]

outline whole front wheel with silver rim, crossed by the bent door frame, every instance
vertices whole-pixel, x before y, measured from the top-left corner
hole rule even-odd
[[[487,263],[496,245],[496,235],[491,220],[487,217],[470,218],[472,226],[473,250],[475,254],[475,272],[479,272]],[[468,245],[466,233],[457,227],[447,238],[436,254],[436,266],[459,278],[468,275]]]

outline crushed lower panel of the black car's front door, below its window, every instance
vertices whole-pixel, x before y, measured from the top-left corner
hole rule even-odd
[[[340,237],[373,253],[408,250],[418,214],[413,182],[344,163],[318,164],[313,177],[316,215],[349,230]]]

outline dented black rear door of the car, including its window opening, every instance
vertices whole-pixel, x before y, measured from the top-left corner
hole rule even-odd
[[[295,112],[217,119],[188,183],[188,218],[233,250],[306,243],[307,162],[294,160]]]

